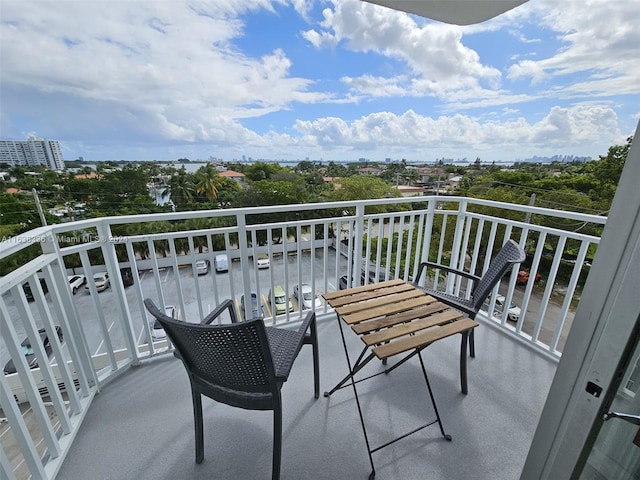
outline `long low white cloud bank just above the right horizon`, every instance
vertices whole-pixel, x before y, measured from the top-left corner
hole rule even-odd
[[[519,117],[486,121],[455,114],[432,118],[408,110],[401,115],[378,112],[351,123],[335,117],[298,121],[295,128],[319,146],[376,150],[455,148],[513,150],[533,144],[540,151],[577,147],[585,141],[621,138],[615,112],[602,105],[553,107],[536,123]]]

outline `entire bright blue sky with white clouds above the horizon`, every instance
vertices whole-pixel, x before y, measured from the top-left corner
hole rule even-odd
[[[359,0],[3,0],[0,138],[66,160],[597,158],[638,123],[639,24],[620,0],[464,27]]]

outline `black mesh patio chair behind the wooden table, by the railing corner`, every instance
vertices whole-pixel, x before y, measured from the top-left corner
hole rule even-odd
[[[464,312],[470,319],[475,319],[480,307],[487,299],[493,287],[500,281],[500,279],[513,267],[514,264],[524,261],[526,255],[524,250],[514,242],[513,240],[507,240],[502,250],[498,252],[495,258],[489,264],[487,271],[484,272],[482,277],[478,277],[471,273],[456,270],[447,265],[440,265],[433,262],[423,262],[418,267],[418,275],[416,275],[414,285],[432,297],[438,299],[442,303]],[[469,298],[453,295],[450,293],[442,292],[433,288],[421,286],[420,278],[423,271],[427,268],[435,268],[444,270],[445,272],[460,275],[472,281],[471,295]],[[476,356],[475,342],[473,336],[474,330],[471,330],[469,334],[469,353],[472,357]],[[463,352],[461,352],[462,355]]]

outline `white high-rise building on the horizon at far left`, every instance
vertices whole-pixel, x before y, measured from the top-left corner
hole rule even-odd
[[[64,159],[57,140],[30,137],[29,140],[0,140],[0,163],[50,170],[64,170]]]

